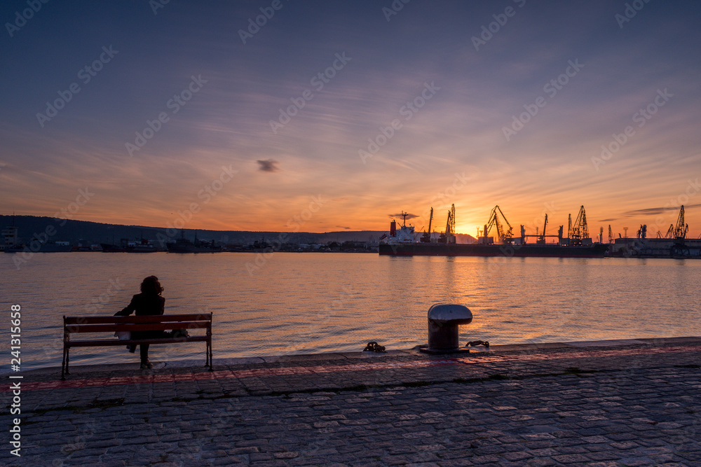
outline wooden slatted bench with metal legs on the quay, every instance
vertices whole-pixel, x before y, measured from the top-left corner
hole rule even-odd
[[[206,329],[206,335],[189,337],[153,337],[149,339],[119,340],[114,333],[121,331]],[[74,333],[109,333],[110,338],[71,340]],[[163,314],[154,316],[64,316],[63,317],[63,363],[61,379],[69,375],[68,362],[71,347],[103,347],[138,344],[175,344],[178,342],[206,342],[205,366],[212,371],[212,314]]]

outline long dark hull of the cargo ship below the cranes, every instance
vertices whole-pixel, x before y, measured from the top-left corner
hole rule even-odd
[[[380,244],[381,255],[387,256],[505,256],[537,258],[603,258],[606,244],[564,245],[485,245],[485,244]]]

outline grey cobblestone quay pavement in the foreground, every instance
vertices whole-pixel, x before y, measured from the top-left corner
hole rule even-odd
[[[37,370],[0,463],[701,466],[700,364],[687,337]]]

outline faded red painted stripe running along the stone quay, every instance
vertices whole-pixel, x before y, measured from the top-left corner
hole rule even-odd
[[[479,365],[502,363],[508,361],[542,361],[560,358],[606,358],[612,356],[632,356],[646,354],[668,354],[673,352],[701,351],[701,346],[692,347],[655,347],[651,349],[620,349],[566,351],[562,353],[538,352],[533,354],[494,355],[485,354],[476,357],[446,358],[442,360],[398,361],[376,363],[351,363],[349,365],[316,365],[292,366],[285,368],[251,368],[248,370],[203,371],[196,373],[180,373],[165,375],[119,376],[109,378],[72,379],[68,381],[39,381],[22,382],[22,391],[37,391],[40,389],[74,389],[88,386],[118,386],[121,384],[152,384],[172,383],[179,381],[200,381],[206,379],[256,378],[271,376],[312,375],[315,373],[379,371],[399,368],[428,368],[444,365]],[[11,391],[10,384],[4,385],[0,392]]]

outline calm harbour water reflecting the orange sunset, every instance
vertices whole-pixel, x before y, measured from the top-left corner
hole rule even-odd
[[[60,366],[62,316],[114,314],[151,274],[165,287],[166,313],[214,314],[214,356],[229,358],[360,351],[371,340],[407,349],[426,343],[426,312],[437,302],[472,310],[461,342],[701,335],[700,273],[698,260],[353,253],[38,253],[17,269],[2,254],[0,371],[9,371],[12,304],[22,307],[22,369]],[[85,348],[71,361],[137,355]],[[201,343],[151,347],[156,361],[203,358]]]

